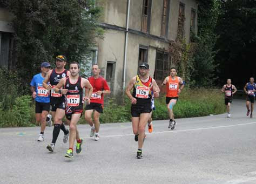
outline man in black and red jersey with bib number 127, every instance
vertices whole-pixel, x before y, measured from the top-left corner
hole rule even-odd
[[[79,64],[77,62],[71,62],[69,71],[70,76],[62,78],[59,83],[55,86],[55,92],[63,94],[65,97],[66,104],[66,118],[70,120],[70,138],[69,138],[69,149],[65,154],[65,157],[73,158],[73,146],[75,139],[77,140],[76,153],[82,151],[83,139],[80,139],[77,130],[77,122],[83,113],[83,88],[89,89],[87,96],[91,96],[92,86],[89,81],[79,76]],[[63,89],[62,89],[63,88]],[[85,98],[87,104],[90,104],[90,98]]]

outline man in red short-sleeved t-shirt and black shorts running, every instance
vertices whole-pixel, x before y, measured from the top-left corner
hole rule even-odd
[[[93,76],[89,77],[93,92],[91,96],[91,103],[86,105],[85,107],[85,120],[91,126],[90,137],[93,137],[95,134],[95,140],[99,140],[99,114],[103,113],[103,105],[104,105],[104,94],[109,94],[110,89],[107,85],[106,80],[99,75],[100,69],[98,65],[92,66]],[[93,113],[93,121],[92,121],[92,112]],[[94,124],[94,125],[93,125]]]

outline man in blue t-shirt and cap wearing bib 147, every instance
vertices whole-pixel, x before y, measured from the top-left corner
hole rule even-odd
[[[48,90],[43,87],[43,80],[47,72],[50,70],[50,64],[44,62],[41,64],[41,73],[33,76],[30,83],[30,90],[32,92],[32,98],[36,101],[36,121],[41,124],[41,132],[38,137],[38,141],[44,140],[44,130],[46,127],[46,116],[48,119],[48,125],[51,125],[50,111],[50,96]]]

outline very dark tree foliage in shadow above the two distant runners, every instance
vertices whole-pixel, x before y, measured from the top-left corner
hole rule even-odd
[[[218,81],[222,84],[231,78],[242,88],[256,73],[256,1],[222,1],[221,10],[216,28]]]

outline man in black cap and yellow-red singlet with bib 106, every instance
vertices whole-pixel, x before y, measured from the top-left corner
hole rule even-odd
[[[131,94],[131,90],[133,92]],[[126,87],[126,95],[131,99],[132,129],[134,140],[138,141],[137,158],[142,159],[142,147],[145,138],[145,127],[152,111],[152,93],[159,97],[159,87],[156,80],[149,76],[149,64],[139,65],[139,75],[133,77]]]

